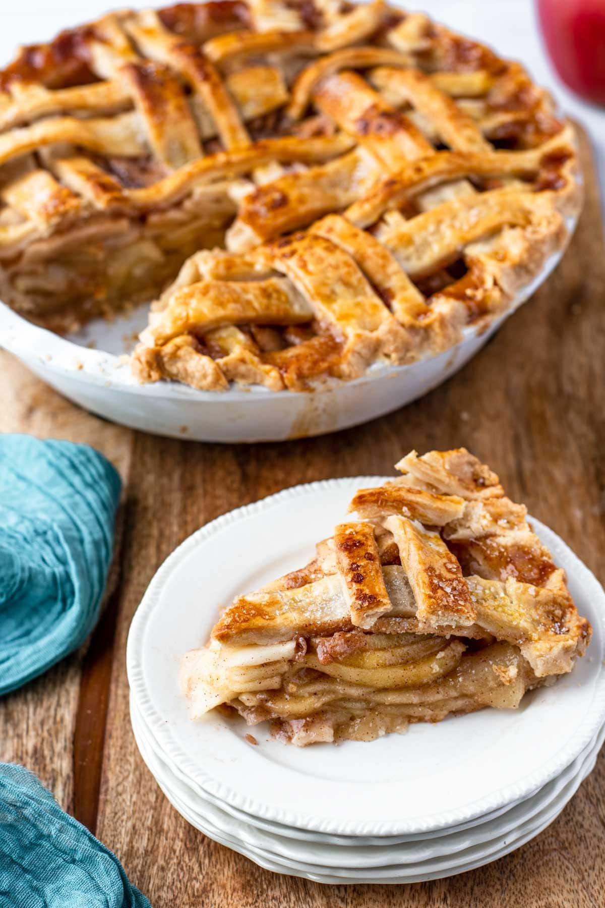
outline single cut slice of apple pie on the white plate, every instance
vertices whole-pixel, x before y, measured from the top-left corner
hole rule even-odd
[[[236,598],[183,656],[192,718],[220,707],[295,745],[370,741],[514,708],[571,671],[590,624],[526,509],[464,448],[397,469],[359,489],[305,568]]]

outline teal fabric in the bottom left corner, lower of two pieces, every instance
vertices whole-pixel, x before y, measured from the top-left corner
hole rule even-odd
[[[0,908],[151,908],[23,766],[0,764]]]

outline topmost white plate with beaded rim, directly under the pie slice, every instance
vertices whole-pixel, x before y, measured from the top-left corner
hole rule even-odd
[[[486,709],[412,725],[371,744],[298,749],[210,715],[193,723],[177,684],[179,660],[205,642],[220,609],[306,563],[346,514],[354,491],[379,477],[287,489],[231,511],[177,548],[151,581],[132,620],[132,694],[162,750],[210,795],[280,824],[337,835],[423,833],[465,823],[531,795],[561,773],[605,720],[605,593],[550,529],[536,532],[565,568],[594,635],[587,656],[519,710]]]

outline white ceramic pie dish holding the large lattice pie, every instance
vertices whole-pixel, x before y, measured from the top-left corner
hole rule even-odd
[[[575,222],[568,220],[569,235]],[[14,353],[37,376],[85,410],[157,435],[198,441],[254,442],[306,438],[346,429],[397,410],[461,369],[515,309],[546,280],[564,250],[551,255],[492,324],[464,331],[463,340],[407,366],[371,366],[359,379],[329,381],[295,393],[248,390],[200,391],[176,382],[140,385],[124,354],[146,324],[147,306],[112,323],[93,321],[62,338],[38,328],[0,302],[0,347]]]

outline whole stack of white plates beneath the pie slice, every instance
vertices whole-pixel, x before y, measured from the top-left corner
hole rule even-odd
[[[354,491],[382,481],[298,486],[201,528],[154,577],[128,641],[132,728],[171,804],[256,864],[320,883],[415,883],[508,854],[561,813],[605,737],[605,593],[537,520],[594,633],[571,675],[518,710],[302,749],[269,738],[265,725],[190,721],[182,654],[208,639],[238,593],[303,565]]]

